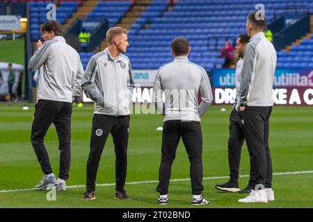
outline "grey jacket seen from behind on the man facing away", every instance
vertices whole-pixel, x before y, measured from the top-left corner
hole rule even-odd
[[[198,105],[198,92],[202,101]],[[162,94],[165,94],[165,103]],[[159,69],[154,83],[152,101],[156,103],[164,121],[200,121],[213,101],[207,72],[200,66],[177,56]]]

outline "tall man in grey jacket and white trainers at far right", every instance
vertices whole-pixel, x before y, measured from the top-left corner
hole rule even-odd
[[[251,164],[254,165],[254,184],[257,187],[256,191],[239,202],[267,203],[268,200],[273,200],[272,164],[268,135],[277,58],[273,44],[266,39],[263,33],[265,17],[259,17],[259,12],[251,12],[246,27],[251,38],[244,52],[241,71],[239,116],[243,123]]]

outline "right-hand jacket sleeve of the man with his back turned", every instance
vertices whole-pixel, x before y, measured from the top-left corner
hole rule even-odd
[[[202,71],[202,78],[200,83],[200,94],[201,94],[201,103],[198,106],[198,112],[200,117],[204,114],[205,111],[209,108],[211,103],[213,102],[213,94],[211,89],[211,84],[209,77],[207,76],[207,72],[205,70]]]

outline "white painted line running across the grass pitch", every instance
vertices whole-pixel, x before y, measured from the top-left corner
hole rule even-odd
[[[303,174],[303,173],[313,173],[313,171],[295,171],[295,172],[281,172],[281,173],[273,173],[273,176],[281,176],[281,175],[292,175],[292,174]],[[241,175],[240,178],[247,178],[249,175]],[[216,180],[216,179],[226,179],[230,178],[229,176],[214,176],[209,178],[203,178],[202,180]],[[170,182],[179,182],[179,181],[190,181],[190,178],[186,179],[172,179]],[[126,185],[138,185],[145,183],[155,183],[159,182],[159,180],[146,180],[146,181],[134,181],[134,182],[126,182]],[[115,186],[115,183],[104,183],[96,185],[97,187],[111,187]],[[73,185],[67,186],[66,188],[81,188],[86,187],[86,185]],[[21,192],[21,191],[33,191],[35,189],[9,189],[9,190],[0,190],[0,193],[12,193],[12,192]]]

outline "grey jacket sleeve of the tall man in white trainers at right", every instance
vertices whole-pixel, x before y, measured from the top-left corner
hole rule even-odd
[[[252,78],[255,73],[255,64],[257,60],[255,44],[252,42],[247,44],[244,55],[240,82],[240,105],[247,105],[249,101],[250,89],[253,81]]]

